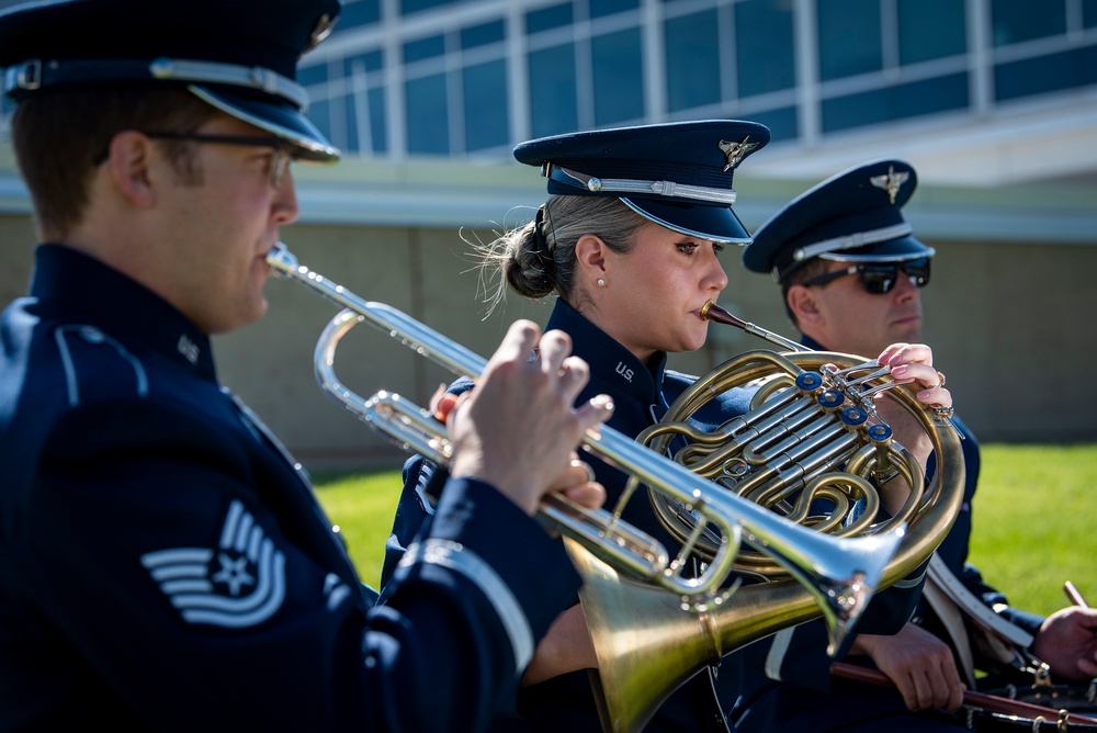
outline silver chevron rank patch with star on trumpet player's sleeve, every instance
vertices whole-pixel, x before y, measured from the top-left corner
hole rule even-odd
[[[240,501],[229,506],[216,550],[159,550],[140,562],[188,623],[253,627],[285,599],[285,555]]]

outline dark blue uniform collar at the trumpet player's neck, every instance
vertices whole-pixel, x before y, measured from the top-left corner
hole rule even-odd
[[[150,345],[168,359],[216,381],[210,338],[162,297],[103,262],[64,245],[35,251],[31,295],[66,315]],[[70,317],[70,316],[69,316]]]

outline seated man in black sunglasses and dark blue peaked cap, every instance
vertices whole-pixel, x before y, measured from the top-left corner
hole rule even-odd
[[[755,232],[743,262],[772,273],[802,343],[871,356],[889,343],[921,339],[921,289],[935,251],[903,218],[916,184],[906,161],[868,162],[815,185]],[[818,624],[807,623],[746,650],[754,674],[746,675],[737,710],[740,733],[966,730],[949,713],[960,708],[963,688],[974,686],[975,669],[1032,683],[1031,674],[1015,673],[1009,650],[1032,666],[1047,662],[1063,679],[1097,672],[1097,614],[1064,609],[1044,620],[1013,609],[966,563],[979,443],[953,420],[965,438],[964,500],[929,563],[923,600],[897,634],[858,634],[845,659],[883,672],[900,695],[835,679],[815,641]]]

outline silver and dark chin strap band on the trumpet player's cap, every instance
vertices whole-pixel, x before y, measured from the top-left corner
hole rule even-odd
[[[3,90],[4,93],[18,95],[20,92],[32,92],[43,87],[116,83],[126,79],[244,87],[279,97],[298,110],[304,110],[308,105],[308,93],[304,87],[271,69],[176,58],[157,58],[151,61],[136,59],[43,61],[36,58],[8,67],[3,77]]]

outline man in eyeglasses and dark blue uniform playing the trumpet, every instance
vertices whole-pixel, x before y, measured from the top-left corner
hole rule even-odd
[[[0,11],[44,240],[0,319],[0,731],[482,730],[574,602],[533,515],[552,488],[600,504],[572,456],[612,408],[575,406],[565,335],[513,325],[454,408],[450,480],[385,607],[217,380],[211,337],[263,316],[297,217],[290,160],[339,156],[295,81],[339,11]]]

